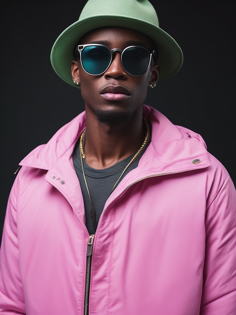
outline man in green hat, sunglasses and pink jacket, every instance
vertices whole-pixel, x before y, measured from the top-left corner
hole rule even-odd
[[[51,61],[85,112],[20,163],[2,313],[234,314],[233,183],[198,134],[143,106],[183,61],[151,4],[89,0]]]

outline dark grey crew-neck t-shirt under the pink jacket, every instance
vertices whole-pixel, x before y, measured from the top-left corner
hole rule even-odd
[[[145,152],[145,150],[147,149],[150,141],[151,140],[149,140],[148,144],[140,153],[139,157],[137,157],[134,160],[134,162],[126,169],[125,173],[122,175],[119,182],[125,177],[126,174],[128,174],[132,169],[135,169],[138,166],[138,162],[141,156],[143,155],[143,153]],[[134,152],[134,154],[135,153],[136,152]],[[85,185],[82,166],[81,166],[80,139],[77,141],[72,158],[73,158],[73,164],[74,164],[76,174],[80,181],[80,186],[81,186],[82,195],[84,199],[85,225],[90,235],[95,234],[97,226],[98,226],[99,218],[103,212],[104,205],[111,194],[112,188],[115,185],[118,178],[121,176],[127,164],[131,161],[134,154],[132,154],[130,157],[126,157],[124,160],[112,165],[111,167],[108,167],[107,169],[93,169],[92,167],[87,165],[85,158],[83,159],[85,178],[86,178],[87,186],[88,186],[89,193],[92,199],[93,208],[96,213],[96,226],[94,227],[92,216],[91,216],[90,200],[89,200],[87,188]],[[119,182],[116,184],[115,187],[117,187]]]

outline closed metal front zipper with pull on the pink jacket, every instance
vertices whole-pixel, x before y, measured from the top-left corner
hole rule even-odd
[[[91,274],[91,262],[93,255],[93,240],[94,234],[89,236],[86,253],[86,277],[85,277],[85,295],[84,295],[84,315],[88,315],[89,305],[89,291],[90,291],[90,274]]]

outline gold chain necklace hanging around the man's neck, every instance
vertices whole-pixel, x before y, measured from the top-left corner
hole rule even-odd
[[[143,117],[143,121],[145,123],[145,131],[146,131],[146,136],[145,136],[145,139],[143,141],[143,144],[141,146],[141,148],[138,150],[137,153],[135,153],[135,155],[132,157],[131,161],[127,164],[127,166],[125,167],[125,169],[123,170],[121,176],[118,178],[118,180],[116,181],[115,185],[118,183],[118,181],[121,179],[122,175],[125,173],[126,169],[134,162],[134,160],[139,156],[139,154],[143,151],[143,149],[145,148],[146,144],[148,143],[149,141],[149,138],[150,138],[150,131],[149,131],[149,126],[148,126],[148,123],[146,121],[146,119]],[[86,188],[87,188],[87,191],[88,191],[88,196],[89,196],[89,200],[90,200],[90,203],[91,203],[91,207],[93,208],[93,203],[92,203],[92,199],[91,199],[91,196],[90,196],[90,193],[89,193],[89,190],[88,190],[88,185],[87,185],[87,181],[86,181],[86,178],[85,178],[85,174],[84,174],[84,165],[83,165],[83,159],[85,158],[85,154],[84,154],[84,151],[83,151],[83,146],[82,146],[82,139],[85,135],[85,131],[86,129],[83,131],[82,135],[80,136],[80,157],[81,157],[81,165],[82,165],[82,171],[83,171],[83,176],[84,176],[84,181],[85,181],[85,185],[86,185]],[[115,185],[113,186],[111,192],[113,192],[114,188],[115,188]]]

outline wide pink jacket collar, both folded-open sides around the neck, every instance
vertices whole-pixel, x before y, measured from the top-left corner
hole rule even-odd
[[[165,174],[201,169],[211,165],[205,142],[200,135],[173,125],[153,107],[144,105],[143,116],[150,122],[152,139],[133,173],[138,171],[142,176],[146,176],[151,173]],[[29,153],[19,165],[51,169],[68,150],[73,152],[84,128],[85,112],[82,112],[60,128],[46,145],[38,146]],[[193,164],[194,159],[201,162]]]

